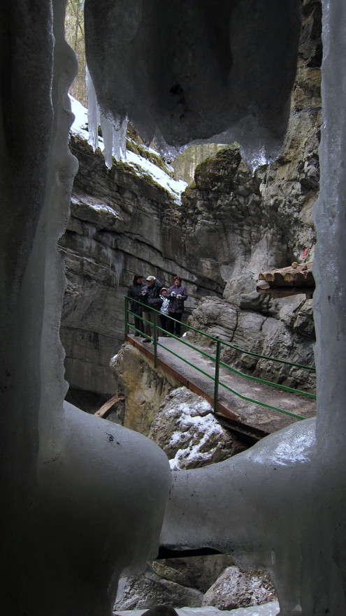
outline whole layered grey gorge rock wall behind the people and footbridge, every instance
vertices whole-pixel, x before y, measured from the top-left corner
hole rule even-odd
[[[123,295],[137,272],[166,285],[180,274],[188,305],[203,298],[191,321],[197,328],[245,349],[312,363],[312,301],[304,295],[273,300],[255,291],[261,270],[300,261],[305,249],[309,260],[314,254],[321,3],[303,0],[302,11],[291,115],[277,161],[259,160],[252,173],[237,145],[223,149],[196,168],[180,205],[124,163],[108,170],[99,150],[71,136],[80,168],[60,240],[68,279],[61,337],[71,388],[114,393],[109,360],[124,340]],[[296,370],[271,371],[245,356],[229,359],[262,376],[271,372],[281,382],[312,386]]]

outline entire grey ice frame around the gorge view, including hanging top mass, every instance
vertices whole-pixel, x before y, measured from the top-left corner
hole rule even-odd
[[[105,115],[124,115],[127,97],[147,139],[154,132],[162,144],[179,146],[227,129],[227,110],[221,105],[216,114],[224,91],[228,102],[234,96],[231,122],[250,158],[262,139],[270,154],[287,117],[300,2],[282,0],[280,10],[277,0],[268,0],[266,10],[262,0],[168,5],[165,13],[154,0],[86,0],[88,62]],[[75,57],[64,42],[64,8],[64,0],[0,5],[0,606],[11,616],[110,614],[120,571],[143,562],[157,542],[170,483],[166,458],[153,443],[63,406],[58,330],[64,275],[57,238],[76,170],[67,145],[66,96]],[[233,552],[245,566],[266,566],[284,616],[346,612],[346,6],[344,0],[324,0],[323,9],[322,179],[315,212],[317,430],[307,420],[231,462],[174,476],[162,534],[168,544],[207,541]],[[183,10],[183,24],[196,26],[202,74],[187,70],[191,41],[180,22]],[[231,52],[222,25],[229,17]],[[134,25],[135,43],[143,45],[140,65],[138,55],[127,60],[123,53],[131,79],[124,80],[120,100],[110,87],[113,38],[129,45]],[[146,40],[148,29],[152,41]],[[172,52],[177,37],[181,54]],[[109,68],[103,80],[97,75],[100,62]],[[234,82],[227,77],[230,68]],[[264,68],[268,81],[261,89]],[[207,76],[213,85],[209,103]],[[168,83],[168,77],[177,79]],[[134,98],[150,100],[149,108],[138,109]]]

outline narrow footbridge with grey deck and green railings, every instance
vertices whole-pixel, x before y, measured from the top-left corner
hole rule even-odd
[[[152,361],[154,368],[159,367],[171,374],[176,381],[208,400],[220,423],[227,427],[253,439],[261,439],[297,420],[315,416],[314,393],[244,374],[221,360],[222,348],[228,346],[257,358],[303,368],[310,374],[315,374],[314,367],[240,349],[189,325],[185,325],[187,330],[206,338],[206,346],[196,346],[185,337],[168,336],[168,332],[159,326],[159,312],[156,310],[153,311],[153,323],[149,323],[152,328],[152,337],[149,337],[130,323],[131,315],[149,323],[129,309],[129,298],[125,298],[127,342]],[[150,339],[150,343],[143,344],[138,334],[143,339]]]

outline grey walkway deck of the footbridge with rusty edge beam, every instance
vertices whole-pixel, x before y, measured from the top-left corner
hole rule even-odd
[[[133,335],[128,335],[127,340],[134,344],[149,359],[153,359],[154,347],[152,342],[143,344],[140,338]],[[172,355],[168,349],[171,349],[179,357]],[[208,353],[210,355],[213,354],[210,349],[208,349]],[[189,346],[183,345],[174,338],[159,338],[157,345],[158,366],[166,372],[173,374],[180,383],[202,395],[212,404],[214,381],[186,364],[181,359],[182,355],[190,363],[210,374],[210,376],[214,376],[215,362],[212,362],[212,360],[204,357],[198,351],[190,349]],[[259,402],[277,406],[280,409],[306,418],[315,416],[316,402],[313,399],[273,388],[264,383],[250,381],[223,367],[220,367],[219,381],[238,391],[241,395],[256,399]],[[236,429],[251,434],[255,438],[261,438],[266,434],[276,432],[296,421],[295,418],[272,411],[265,406],[247,402],[226,390],[221,384],[219,385],[219,407],[217,414],[231,420]]]

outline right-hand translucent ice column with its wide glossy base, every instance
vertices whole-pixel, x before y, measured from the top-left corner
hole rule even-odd
[[[323,2],[321,191],[315,206],[316,429],[175,474],[162,541],[271,571],[281,616],[346,613],[346,6]],[[183,494],[189,502],[183,504]],[[185,497],[186,499],[186,497]],[[185,515],[181,515],[181,512]]]

